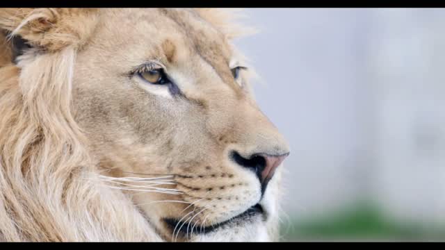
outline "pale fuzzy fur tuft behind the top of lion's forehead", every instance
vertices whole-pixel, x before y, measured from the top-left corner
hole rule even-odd
[[[195,11],[202,17],[202,19],[205,19],[207,22],[218,28],[218,30],[225,34],[226,38],[229,40],[257,33],[256,29],[238,23],[239,19],[245,17],[245,15],[243,15],[243,9],[195,8]]]

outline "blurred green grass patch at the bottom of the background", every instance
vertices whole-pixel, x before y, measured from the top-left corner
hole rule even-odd
[[[372,203],[362,201],[342,210],[305,219],[293,219],[282,224],[282,241],[354,241],[445,240],[445,227],[398,222],[385,215]]]

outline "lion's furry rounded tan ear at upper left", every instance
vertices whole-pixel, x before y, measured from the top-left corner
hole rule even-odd
[[[58,51],[81,46],[95,28],[97,10],[83,8],[2,8],[0,28],[36,47]]]

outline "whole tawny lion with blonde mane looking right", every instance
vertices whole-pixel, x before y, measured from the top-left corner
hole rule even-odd
[[[0,240],[276,241],[238,10],[0,10]]]

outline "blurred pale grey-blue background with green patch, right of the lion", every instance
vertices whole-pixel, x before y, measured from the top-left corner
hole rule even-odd
[[[282,240],[445,240],[445,9],[253,8],[236,40],[291,145]]]

